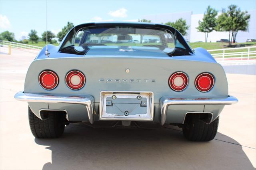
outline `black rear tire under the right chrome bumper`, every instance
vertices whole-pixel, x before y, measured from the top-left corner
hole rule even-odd
[[[214,139],[218,130],[219,117],[210,124],[200,120],[199,116],[190,118],[185,120],[185,126],[182,129],[183,135],[187,140],[210,141]]]

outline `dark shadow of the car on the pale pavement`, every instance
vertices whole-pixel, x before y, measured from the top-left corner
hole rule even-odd
[[[187,141],[178,128],[156,130],[68,125],[62,137],[37,139],[52,151],[42,169],[254,169],[238,142]],[[232,144],[236,143],[236,144]]]

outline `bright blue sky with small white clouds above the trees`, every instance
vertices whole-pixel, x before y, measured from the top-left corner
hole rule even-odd
[[[202,14],[208,5],[218,11],[236,4],[241,10],[255,10],[255,0],[48,0],[48,30],[55,34],[68,21],[78,25],[92,21],[137,21],[144,15],[192,11]],[[14,32],[17,40],[31,29],[41,36],[46,30],[46,0],[0,0],[0,32]]]

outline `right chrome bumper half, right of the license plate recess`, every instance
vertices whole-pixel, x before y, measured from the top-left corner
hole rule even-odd
[[[166,122],[167,108],[170,105],[232,105],[238,102],[238,99],[233,96],[228,96],[222,99],[211,98],[197,98],[197,99],[184,99],[184,98],[172,98],[162,97],[161,102],[161,125]]]

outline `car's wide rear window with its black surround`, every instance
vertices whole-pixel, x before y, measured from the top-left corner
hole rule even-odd
[[[193,55],[192,49],[176,29],[164,25],[140,23],[78,25],[66,35],[59,51],[76,55],[87,53],[92,55],[95,49],[108,50],[110,55],[118,55],[113,49],[153,50],[156,53],[164,52],[169,57]]]

